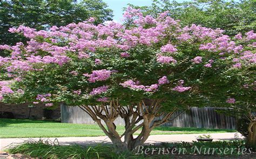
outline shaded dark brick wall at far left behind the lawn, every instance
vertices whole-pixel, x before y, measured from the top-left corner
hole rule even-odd
[[[42,119],[45,108],[46,107],[42,104],[35,105],[35,107],[31,108],[30,119]],[[28,104],[9,105],[0,103],[0,114],[4,112],[12,112],[16,119],[28,119],[29,110]],[[60,118],[60,106],[52,111],[51,118]]]

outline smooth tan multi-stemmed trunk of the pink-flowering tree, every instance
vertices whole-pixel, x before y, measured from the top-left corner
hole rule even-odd
[[[177,111],[176,108],[174,108],[172,112],[160,113],[160,102],[159,99],[152,100],[147,102],[150,104],[146,105],[144,100],[142,100],[137,104],[120,106],[118,99],[112,99],[109,103],[103,103],[102,105],[82,105],[79,107],[97,122],[103,132],[110,138],[114,146],[116,146],[117,150],[131,151],[137,146],[142,145],[147,138],[149,138],[150,132],[156,126],[169,122],[178,116],[177,115],[174,118],[172,117],[173,113]],[[161,115],[163,115],[161,120],[155,120]],[[116,125],[114,124],[114,121],[118,117],[123,118],[125,121],[125,132],[123,134],[117,132]],[[140,131],[139,135],[136,137],[133,136],[137,131]]]

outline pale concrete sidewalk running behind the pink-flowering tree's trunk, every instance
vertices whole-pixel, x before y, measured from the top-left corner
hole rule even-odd
[[[160,142],[180,142],[180,141],[196,141],[197,136],[203,134],[174,134],[174,135],[150,135],[149,139],[147,139],[146,143],[160,143]],[[213,133],[210,134],[213,141],[217,140],[232,140],[234,139],[235,133]],[[242,138],[241,134],[239,134],[239,138]],[[19,144],[28,140],[29,138],[5,138],[0,139],[0,150],[5,149],[6,147],[14,146],[15,144]],[[39,140],[39,138],[30,138],[32,140]],[[71,143],[77,143],[81,145],[85,144],[95,144],[101,142],[111,142],[107,136],[96,136],[96,137],[67,137],[67,138],[42,138],[42,139],[49,139],[54,141],[55,139],[58,140],[59,144],[67,145]]]

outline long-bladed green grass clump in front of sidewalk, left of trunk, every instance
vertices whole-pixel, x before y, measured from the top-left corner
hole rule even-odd
[[[7,151],[10,154],[23,154],[39,158],[124,158],[127,155],[127,153],[116,153],[109,144],[59,146],[59,144],[53,143],[49,139],[39,139],[38,141],[30,139],[18,146],[7,149]]]

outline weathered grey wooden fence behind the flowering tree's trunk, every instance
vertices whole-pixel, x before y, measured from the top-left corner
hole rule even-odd
[[[60,109],[62,112],[62,122],[95,124],[90,115],[78,106],[62,105]],[[174,113],[173,117],[177,115],[178,112]],[[124,125],[124,121],[119,117],[116,119],[115,124]],[[235,119],[224,114],[218,114],[213,107],[192,107],[190,111],[180,114],[173,121],[167,122],[163,126],[235,129]]]

